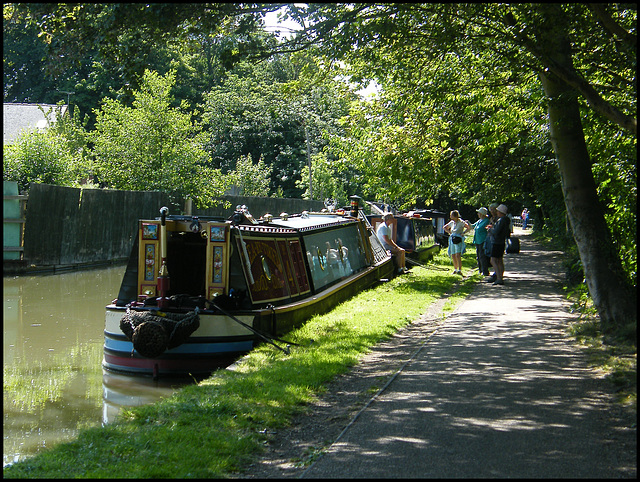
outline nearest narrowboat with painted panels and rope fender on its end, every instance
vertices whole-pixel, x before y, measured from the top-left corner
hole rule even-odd
[[[279,336],[393,276],[357,201],[344,214],[258,220],[246,206],[226,220],[160,212],[139,220],[106,307],[107,370],[204,376],[257,343],[281,348]]]

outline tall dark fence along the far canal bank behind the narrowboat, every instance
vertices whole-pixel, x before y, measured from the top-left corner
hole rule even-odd
[[[319,211],[321,201],[225,196],[229,207],[193,209],[193,215],[233,214],[244,204],[257,219],[269,212]],[[138,219],[154,219],[160,208],[169,214],[184,214],[184,201],[166,193],[74,189],[48,184],[32,184],[26,210],[24,258],[37,266],[64,266],[100,263],[129,256]]]

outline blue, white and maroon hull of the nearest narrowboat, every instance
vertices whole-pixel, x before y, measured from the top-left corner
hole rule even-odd
[[[393,265],[387,259],[297,302],[245,313],[234,312],[230,313],[231,316],[203,310],[199,313],[200,326],[189,339],[157,358],[143,357],[134,349],[133,343],[120,329],[120,319],[126,313],[126,307],[111,304],[106,308],[103,367],[114,372],[152,377],[203,376],[228,366],[255,345],[270,337],[282,336],[301,326],[311,316],[329,311],[378,280],[392,275]],[[184,310],[181,313],[184,314]],[[264,334],[266,339],[256,331]]]

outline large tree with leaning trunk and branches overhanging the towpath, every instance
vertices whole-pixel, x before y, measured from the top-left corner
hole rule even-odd
[[[441,162],[445,157],[442,149],[431,153],[412,138],[416,134],[425,140],[425,134],[442,138],[437,126],[446,127],[449,122],[452,112],[445,109],[455,102],[447,100],[447,94],[452,89],[461,92],[456,89],[459,81],[468,79],[463,82],[467,92],[486,95],[490,84],[508,92],[509,86],[522,86],[524,79],[539,76],[549,99],[548,139],[554,148],[567,215],[602,326],[610,331],[629,321],[635,323],[637,299],[611,243],[581,116],[591,109],[598,115],[597,122],[614,122],[635,136],[636,40],[630,32],[635,28],[636,11],[628,6],[588,8],[582,4],[311,4],[307,12],[311,26],[297,39],[297,48],[322,46],[328,57],[341,58],[352,69],[359,67],[361,77],[375,78],[385,90],[395,93],[396,102],[404,103],[407,111],[415,113],[413,117],[424,114],[426,122],[399,120],[389,126],[395,129],[392,135],[385,134],[383,141],[375,143],[394,171],[389,181],[405,182],[416,172],[415,160],[407,163],[411,156],[406,149],[411,146],[422,149],[411,147],[417,160],[434,170],[435,183],[451,175],[446,170],[451,164]],[[439,72],[444,75],[437,75]],[[434,84],[427,73],[445,82]],[[522,107],[503,106],[508,112]],[[489,138],[499,132],[496,120],[504,118],[494,113],[485,119],[492,131]],[[438,120],[435,128],[429,127]],[[405,145],[394,144],[399,135]],[[485,138],[478,133],[475,140]],[[433,145],[437,144],[427,144]],[[402,155],[389,156],[396,146],[404,151]],[[504,164],[499,167],[505,170]],[[468,180],[464,168],[459,172]],[[497,173],[491,170],[488,177]]]

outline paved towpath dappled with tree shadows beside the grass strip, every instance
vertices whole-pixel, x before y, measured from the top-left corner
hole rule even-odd
[[[341,418],[333,397],[325,409],[338,424],[313,463],[292,464],[285,450],[258,476],[635,478],[635,415],[613,403],[611,384],[565,331],[562,253],[516,234],[521,253],[505,258],[504,286],[478,283],[427,336],[407,336],[413,346],[394,348],[386,386],[359,411]],[[301,421],[282,446],[313,430]]]

